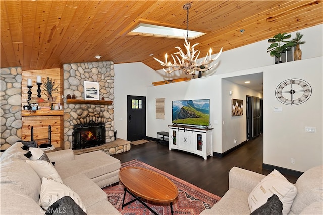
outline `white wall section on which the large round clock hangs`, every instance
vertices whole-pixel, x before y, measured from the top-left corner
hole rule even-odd
[[[301,172],[322,164],[322,69],[323,57],[317,57],[277,64],[264,72],[263,163]],[[276,87],[291,78],[303,79],[312,87],[306,102],[291,106],[276,99]],[[282,107],[282,112],[274,112],[274,107]],[[316,127],[316,133],[306,133],[305,126]]]

